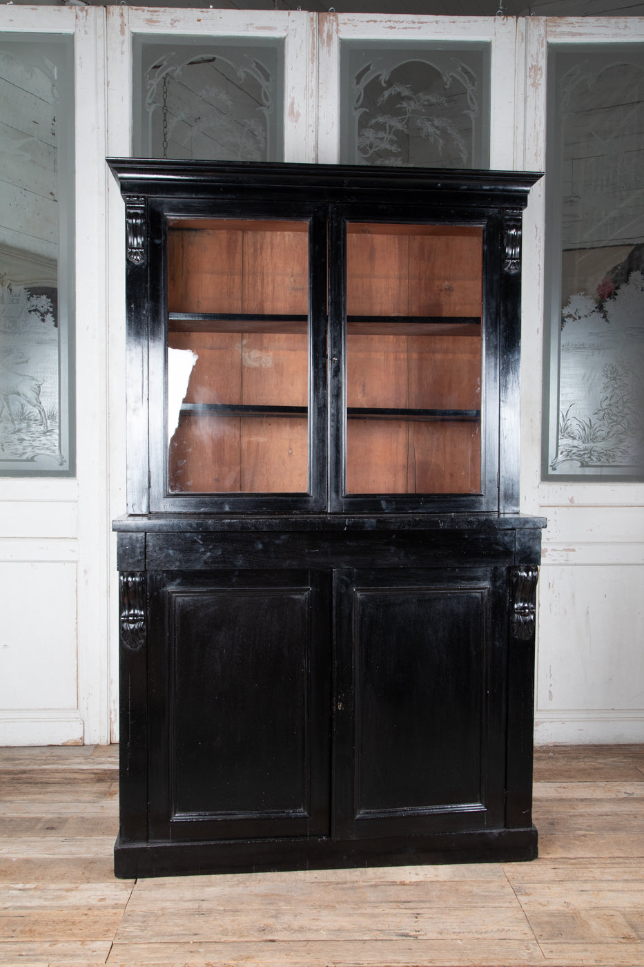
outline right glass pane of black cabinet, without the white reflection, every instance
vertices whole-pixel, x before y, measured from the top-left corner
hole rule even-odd
[[[347,493],[480,493],[483,231],[347,225]]]

